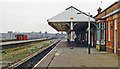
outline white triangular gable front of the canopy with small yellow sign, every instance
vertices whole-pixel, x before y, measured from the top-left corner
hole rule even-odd
[[[90,17],[90,21],[94,22],[95,19]],[[88,22],[88,15],[71,6],[60,14],[48,19],[48,22]]]

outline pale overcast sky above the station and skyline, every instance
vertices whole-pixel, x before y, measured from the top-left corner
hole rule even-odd
[[[102,4],[101,4],[102,1]],[[48,25],[47,19],[74,6],[93,16],[97,9],[104,10],[117,0],[0,0],[0,32],[50,32],[57,31]]]

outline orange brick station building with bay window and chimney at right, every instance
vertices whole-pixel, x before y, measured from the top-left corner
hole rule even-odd
[[[96,19],[96,49],[120,54],[120,1],[107,7],[99,7]]]

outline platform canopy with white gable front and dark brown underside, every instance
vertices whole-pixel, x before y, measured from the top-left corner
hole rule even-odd
[[[47,20],[48,24],[55,28],[57,31],[67,31],[69,30],[69,23],[73,22],[76,24],[74,29],[86,29],[88,27],[89,16],[78,10],[77,8],[71,6],[60,14]],[[90,17],[90,22],[95,22],[95,19]]]

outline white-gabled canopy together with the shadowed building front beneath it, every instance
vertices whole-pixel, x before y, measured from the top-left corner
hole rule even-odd
[[[47,20],[48,24],[58,32],[66,32],[68,43],[84,43],[84,46],[95,46],[95,19],[85,12],[70,6],[63,12]],[[90,24],[90,29],[88,28]],[[90,43],[88,44],[88,30]],[[80,45],[79,45],[80,46]]]

